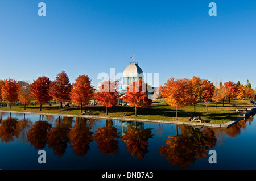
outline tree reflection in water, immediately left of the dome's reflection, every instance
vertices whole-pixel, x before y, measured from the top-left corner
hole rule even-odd
[[[98,128],[93,135],[93,140],[98,144],[98,149],[102,154],[117,154],[119,150],[117,128],[113,127],[113,121],[107,120],[107,126]]]

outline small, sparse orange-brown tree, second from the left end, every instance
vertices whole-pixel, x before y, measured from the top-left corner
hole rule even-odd
[[[18,91],[18,99],[20,102],[24,104],[24,110],[26,110],[26,104],[29,104],[30,101],[33,99],[30,95],[30,84],[20,84]]]

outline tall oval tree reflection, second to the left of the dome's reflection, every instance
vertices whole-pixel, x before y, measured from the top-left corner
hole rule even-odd
[[[87,120],[76,118],[76,124],[70,129],[68,133],[69,142],[73,147],[73,152],[76,155],[83,156],[89,150],[89,144],[92,142],[92,134]]]

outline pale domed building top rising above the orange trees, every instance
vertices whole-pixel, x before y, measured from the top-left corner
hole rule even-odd
[[[143,79],[143,77],[143,71],[138,66],[138,62],[130,62],[123,70],[122,89],[126,89],[131,82],[138,81],[139,78]]]

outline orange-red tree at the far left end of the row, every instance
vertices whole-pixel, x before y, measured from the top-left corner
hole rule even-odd
[[[19,83],[9,78],[8,80],[5,79],[3,85],[2,85],[2,99],[10,103],[18,101],[18,90],[19,90]]]

